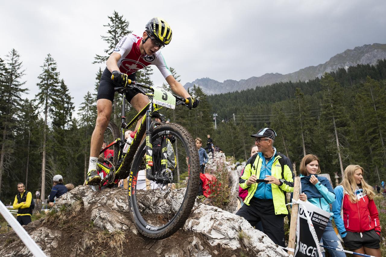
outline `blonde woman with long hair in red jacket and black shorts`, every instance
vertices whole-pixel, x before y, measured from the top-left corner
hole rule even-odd
[[[381,228],[373,200],[375,194],[363,179],[363,172],[359,165],[346,167],[342,183],[334,189],[336,200],[332,211],[345,247],[360,254],[381,257]]]

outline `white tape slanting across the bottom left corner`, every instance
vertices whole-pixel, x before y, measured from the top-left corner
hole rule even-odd
[[[27,231],[24,230],[2,201],[0,201],[0,213],[35,257],[46,257],[46,254],[40,249],[39,245],[37,245]]]

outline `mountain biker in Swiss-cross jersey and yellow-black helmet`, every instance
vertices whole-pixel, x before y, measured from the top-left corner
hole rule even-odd
[[[129,34],[123,37],[116,45],[113,53],[108,57],[106,69],[103,71],[97,94],[98,116],[95,129],[91,136],[90,161],[86,184],[97,184],[101,178],[97,174],[97,161],[99,151],[103,142],[103,133],[107,128],[112,113],[112,102],[114,100],[114,87],[127,86],[127,80],[135,80],[135,72],[149,65],[156,65],[161,74],[168,82],[174,93],[189,99],[189,109],[196,108],[198,99],[191,97],[181,83],[174,79],[169,71],[163,55],[159,52],[161,48],[168,45],[172,38],[171,28],[164,19],[155,17],[146,24],[146,30],[142,37]],[[113,75],[113,80],[111,79]],[[141,111],[149,98],[134,90],[128,90],[126,99],[137,110]],[[141,119],[135,129],[139,127]]]

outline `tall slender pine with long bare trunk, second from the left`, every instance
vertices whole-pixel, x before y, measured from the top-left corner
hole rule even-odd
[[[37,106],[44,113],[44,128],[43,128],[43,149],[42,149],[42,183],[41,195],[42,201],[46,199],[46,144],[47,144],[47,129],[48,118],[53,118],[55,115],[55,106],[58,102],[60,92],[59,72],[57,71],[56,62],[52,59],[51,54],[48,54],[41,66],[43,72],[37,77],[40,81],[37,83],[39,93],[36,95]]]

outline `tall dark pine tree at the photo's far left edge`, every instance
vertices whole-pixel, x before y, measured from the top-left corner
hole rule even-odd
[[[12,49],[7,55],[7,63],[0,59],[0,93],[2,101],[0,104],[1,118],[1,155],[0,155],[0,194],[2,176],[12,161],[12,153],[15,148],[15,129],[18,124],[18,114],[22,105],[22,93],[27,89],[22,88],[25,82],[21,81],[24,76],[23,64],[20,55]]]

